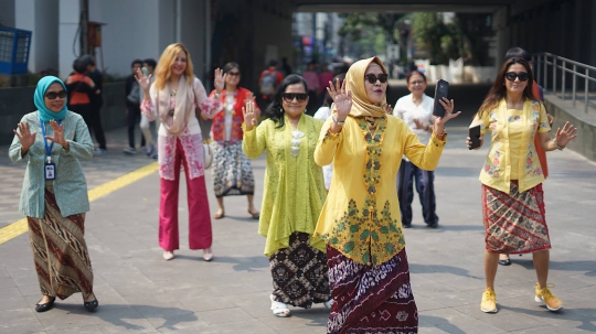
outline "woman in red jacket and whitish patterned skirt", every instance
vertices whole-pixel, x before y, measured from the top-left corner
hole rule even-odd
[[[251,90],[240,86],[241,71],[236,63],[227,63],[223,67],[225,85],[221,94],[216,89],[210,96],[220,98],[222,108],[213,117],[211,126],[211,147],[213,148],[213,190],[217,197],[219,209],[213,218],[225,216],[223,198],[231,195],[246,195],[248,200],[248,214],[258,219],[253,194],[255,192],[255,177],[251,161],[242,152],[242,123],[244,117],[242,107],[255,97]],[[257,118],[260,110],[257,111]]]

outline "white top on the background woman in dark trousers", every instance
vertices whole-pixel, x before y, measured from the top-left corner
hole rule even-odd
[[[413,95],[406,95],[397,100],[395,108],[393,108],[393,115],[403,119],[412,132],[418,136],[418,140],[426,144],[430,139],[430,132],[426,128],[435,123],[435,116],[433,116],[433,105],[435,99],[430,96],[423,94],[422,103],[416,106],[413,101]],[[418,119],[423,122],[424,129],[416,129],[414,119]]]

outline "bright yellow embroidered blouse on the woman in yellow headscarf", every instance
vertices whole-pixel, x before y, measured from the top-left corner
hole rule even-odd
[[[331,121],[315,150],[319,165],[333,162],[333,176],[313,237],[359,263],[382,265],[405,247],[395,188],[402,157],[434,170],[445,141],[433,134],[424,146],[394,116],[381,117],[373,133],[363,117],[349,116],[339,133]]]

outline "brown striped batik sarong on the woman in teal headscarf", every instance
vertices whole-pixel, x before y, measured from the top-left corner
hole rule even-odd
[[[62,217],[51,182],[45,183],[45,217],[26,217],[42,294],[66,299],[93,292],[93,270],[83,238],[85,214]]]

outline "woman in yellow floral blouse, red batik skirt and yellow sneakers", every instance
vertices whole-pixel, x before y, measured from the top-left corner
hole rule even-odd
[[[525,60],[505,61],[470,126],[480,125],[481,144],[487,131],[491,136],[480,172],[486,243],[486,290],[480,310],[487,313],[498,311],[494,277],[499,254],[532,254],[538,277],[534,300],[550,311],[563,308],[546,287],[551,240],[542,196],[544,173],[534,137],[538,132],[544,151],[554,151],[563,150],[577,136],[576,128],[566,122],[551,139],[546,110],[532,93],[532,68]],[[471,147],[469,137],[467,144]]]

